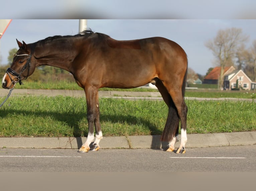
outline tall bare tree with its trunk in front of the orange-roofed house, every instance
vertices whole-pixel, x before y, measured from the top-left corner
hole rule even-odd
[[[205,43],[218,61],[221,67],[219,87],[223,87],[223,74],[226,66],[233,66],[238,48],[248,40],[249,36],[242,33],[242,29],[228,28],[219,30],[213,40]]]

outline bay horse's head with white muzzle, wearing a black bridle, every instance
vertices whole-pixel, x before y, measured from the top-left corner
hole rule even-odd
[[[21,85],[21,80],[26,79],[35,70],[35,65],[31,65],[30,63],[32,56],[31,49],[24,41],[22,42],[17,40],[19,50],[13,57],[11,67],[6,70],[3,77],[2,87],[5,89],[13,88],[17,82]]]

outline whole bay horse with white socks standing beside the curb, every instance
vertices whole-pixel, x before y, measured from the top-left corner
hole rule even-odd
[[[100,126],[99,88],[136,88],[154,84],[169,107],[161,141],[165,151],[185,153],[187,106],[184,101],[187,55],[175,42],[162,37],[118,41],[91,30],[69,36],[53,36],[35,43],[19,42],[19,50],[7,69],[2,87],[11,89],[48,65],[67,70],[84,89],[87,103],[88,136],[78,152],[97,151],[103,138]],[[95,140],[94,140],[95,127]]]

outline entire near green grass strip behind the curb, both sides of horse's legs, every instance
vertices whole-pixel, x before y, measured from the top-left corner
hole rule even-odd
[[[187,133],[255,131],[255,103],[186,100]],[[100,98],[104,136],[159,135],[168,109],[163,101]],[[87,136],[85,98],[12,96],[0,108],[0,137]]]

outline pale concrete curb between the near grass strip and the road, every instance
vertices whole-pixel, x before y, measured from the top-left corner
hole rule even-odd
[[[186,148],[236,146],[256,144],[256,131],[187,134]],[[61,148],[79,149],[86,137],[0,137],[0,148]],[[102,149],[163,149],[167,142],[160,141],[160,135],[103,137]],[[178,147],[179,141],[175,143]]]

